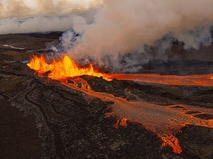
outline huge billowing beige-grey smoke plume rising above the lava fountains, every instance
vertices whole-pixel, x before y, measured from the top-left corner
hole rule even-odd
[[[145,52],[145,46],[156,42],[162,49],[170,46],[172,38],[183,41],[185,49],[212,42],[212,0],[104,0],[104,4],[92,24],[75,17],[73,29],[81,35],[74,51],[69,51],[75,60],[88,58],[100,66],[120,67],[119,57]],[[165,37],[172,38],[162,42]],[[130,56],[126,61],[141,62],[135,59]]]

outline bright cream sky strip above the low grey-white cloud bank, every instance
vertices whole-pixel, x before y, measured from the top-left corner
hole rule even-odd
[[[1,0],[0,18],[52,16],[99,6],[102,0]]]

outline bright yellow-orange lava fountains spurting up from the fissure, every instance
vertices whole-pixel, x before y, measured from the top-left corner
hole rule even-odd
[[[43,55],[40,57],[33,56],[31,62],[27,65],[31,69],[36,70],[39,75],[49,71],[48,77],[54,80],[64,80],[69,77],[82,75],[103,77],[103,73],[98,72],[97,69],[93,67],[92,63],[90,63],[89,67],[82,68],[67,55],[61,60],[53,58],[52,63],[47,63]]]

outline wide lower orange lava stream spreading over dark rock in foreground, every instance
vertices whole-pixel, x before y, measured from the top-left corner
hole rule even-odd
[[[213,128],[213,120],[199,119],[186,114],[188,111],[200,111],[212,114],[213,109],[188,105],[164,107],[144,102],[142,99],[135,102],[128,102],[126,99],[115,97],[111,94],[94,92],[85,80],[79,79],[74,81],[73,84],[67,81],[63,81],[62,84],[71,89],[84,92],[90,97],[100,98],[106,102],[113,101],[114,104],[111,105],[113,112],[105,114],[105,117],[117,115],[120,118],[113,127],[118,129],[120,126],[126,126],[127,121],[141,123],[146,129],[156,133],[161,138],[163,147],[170,146],[175,153],[180,154],[182,152],[179,141],[174,135],[182,127],[191,124]],[[77,87],[79,82],[84,86],[81,88]],[[184,107],[185,109],[176,109],[177,106]]]

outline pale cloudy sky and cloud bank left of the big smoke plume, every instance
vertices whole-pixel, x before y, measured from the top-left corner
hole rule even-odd
[[[66,31],[78,15],[93,22],[102,0],[2,0],[0,34]]]

